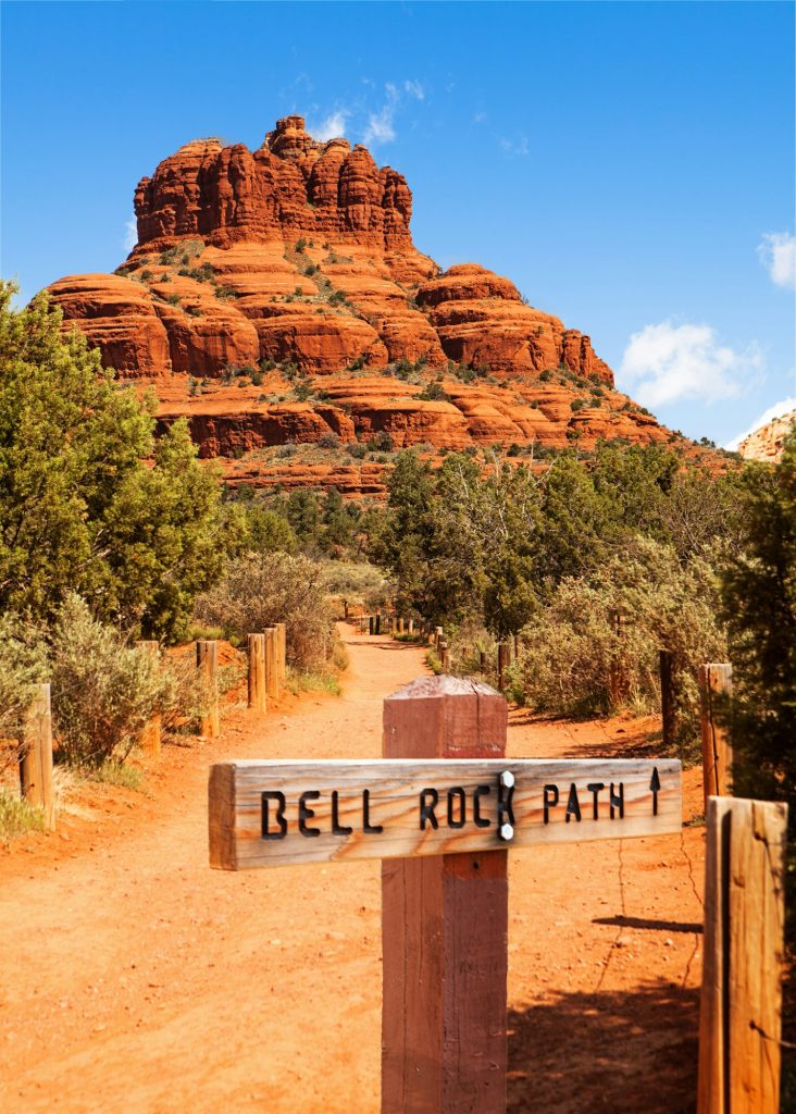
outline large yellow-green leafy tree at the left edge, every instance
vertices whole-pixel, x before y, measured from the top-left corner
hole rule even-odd
[[[119,389],[39,295],[0,287],[0,607],[51,618],[69,592],[122,628],[175,638],[217,575],[219,483],[184,421]],[[154,458],[154,467],[144,463]]]

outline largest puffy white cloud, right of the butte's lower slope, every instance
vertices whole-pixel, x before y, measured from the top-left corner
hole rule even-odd
[[[657,407],[682,399],[716,402],[740,394],[763,370],[759,345],[745,351],[718,343],[710,325],[675,325],[664,321],[633,333],[625,350],[621,377],[633,384],[642,405]]]

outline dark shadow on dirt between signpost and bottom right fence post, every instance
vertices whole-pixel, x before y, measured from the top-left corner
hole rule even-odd
[[[694,1114],[699,991],[559,994],[509,1012],[510,1114]]]

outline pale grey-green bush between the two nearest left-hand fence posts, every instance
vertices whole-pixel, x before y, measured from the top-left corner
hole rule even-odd
[[[77,765],[124,761],[156,709],[168,677],[157,658],[128,646],[69,596],[50,633],[52,714],[60,753]]]

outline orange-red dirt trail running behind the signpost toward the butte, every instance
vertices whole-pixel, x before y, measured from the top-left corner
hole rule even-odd
[[[376,1114],[379,863],[233,874],[206,850],[212,761],[380,755],[422,653],[345,638],[342,697],[235,710],[217,744],[165,750],[150,799],[0,852],[3,1114]],[[643,726],[515,713],[509,751],[640,753]],[[510,1110],[692,1110],[701,848],[688,828],[510,857]]]

